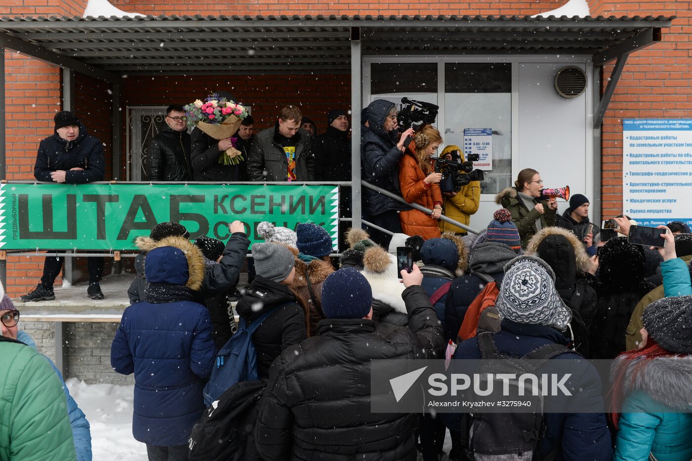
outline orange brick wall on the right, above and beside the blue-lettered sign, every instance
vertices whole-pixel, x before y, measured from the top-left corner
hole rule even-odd
[[[605,113],[602,141],[603,219],[622,213],[622,119],[689,117],[692,109],[690,1],[590,1],[592,16],[677,15],[663,42],[632,53]],[[614,63],[603,70],[603,88]]]

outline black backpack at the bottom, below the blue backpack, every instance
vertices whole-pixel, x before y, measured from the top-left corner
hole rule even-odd
[[[190,461],[244,461],[255,421],[248,417],[264,392],[262,381],[242,381],[214,401],[192,427]]]

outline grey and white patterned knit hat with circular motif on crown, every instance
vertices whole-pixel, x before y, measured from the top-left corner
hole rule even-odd
[[[546,325],[563,331],[572,320],[572,312],[555,289],[555,273],[536,256],[517,256],[504,266],[495,306],[502,318],[516,323]]]

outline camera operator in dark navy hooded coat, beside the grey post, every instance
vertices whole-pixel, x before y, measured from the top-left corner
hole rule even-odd
[[[413,129],[397,138],[397,106],[394,102],[378,99],[367,107],[367,130],[361,141],[363,179],[374,186],[401,195],[399,190],[399,160],[403,156],[403,142],[413,136]],[[392,231],[401,233],[399,211],[409,207],[372,189],[363,188],[363,218]],[[389,247],[392,237],[374,228],[370,238],[384,248]]]

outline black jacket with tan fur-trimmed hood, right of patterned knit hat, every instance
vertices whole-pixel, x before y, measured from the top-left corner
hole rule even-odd
[[[598,297],[585,273],[589,258],[581,243],[570,230],[547,227],[538,231],[529,241],[527,254],[547,262],[555,273],[555,288],[572,311],[570,328],[574,350],[590,358],[589,331],[598,309]]]

